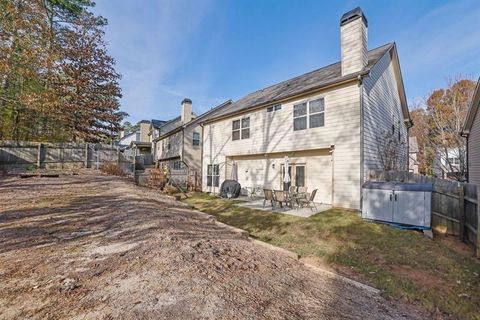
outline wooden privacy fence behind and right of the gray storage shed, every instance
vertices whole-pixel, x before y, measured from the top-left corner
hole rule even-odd
[[[432,228],[476,245],[480,257],[480,191],[474,184],[404,171],[369,172],[372,181],[431,183]]]

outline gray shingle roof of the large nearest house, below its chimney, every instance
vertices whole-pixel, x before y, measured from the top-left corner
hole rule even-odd
[[[321,88],[326,85],[335,84],[343,80],[356,78],[359,74],[368,72],[377,63],[377,61],[391,48],[393,43],[388,43],[381,47],[368,51],[368,65],[361,72],[349,74],[342,77],[340,62],[328,65],[326,67],[305,73],[301,76],[280,82],[273,86],[255,91],[245,97],[235,101],[226,108],[217,112],[214,118],[227,116],[247,110],[266,103],[274,103],[275,101],[288,98],[303,92]],[[212,119],[214,119],[212,118]]]

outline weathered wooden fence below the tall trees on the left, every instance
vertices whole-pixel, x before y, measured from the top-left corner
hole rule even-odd
[[[134,170],[134,157],[119,148],[92,143],[40,143],[0,141],[0,170],[98,169],[104,163],[116,163],[125,173]]]

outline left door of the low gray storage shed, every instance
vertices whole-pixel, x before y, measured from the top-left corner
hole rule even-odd
[[[392,221],[393,219],[393,196],[391,190],[364,189],[363,218]]]

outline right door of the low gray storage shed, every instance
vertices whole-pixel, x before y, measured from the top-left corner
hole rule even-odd
[[[425,193],[412,191],[395,191],[393,222],[425,225]]]

